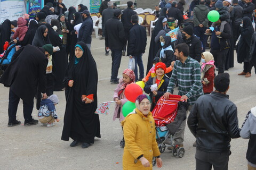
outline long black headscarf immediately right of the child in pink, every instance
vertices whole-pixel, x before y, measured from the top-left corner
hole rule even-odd
[[[35,20],[30,20],[28,31],[27,31],[23,41],[21,42],[22,46],[26,46],[27,44],[30,44],[30,45],[32,44],[32,41],[35,37],[37,28],[38,28],[37,22]]]

